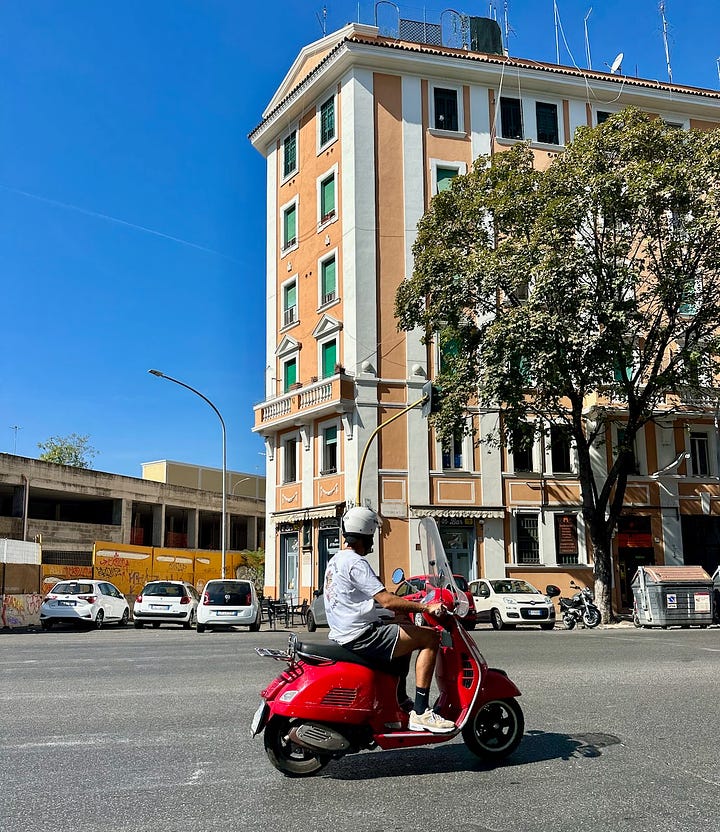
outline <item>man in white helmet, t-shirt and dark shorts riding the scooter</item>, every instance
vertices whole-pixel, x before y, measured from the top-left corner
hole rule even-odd
[[[390,613],[429,612],[442,617],[441,603],[420,604],[388,592],[366,560],[373,549],[380,518],[372,509],[356,506],[342,519],[345,548],[328,563],[325,573],[325,611],[330,625],[329,637],[348,650],[379,663],[408,657],[418,650],[415,663],[415,702],[408,728],[444,734],[454,731],[455,723],[444,719],[428,707],[430,684],[440,647],[440,634],[431,627],[418,627],[383,617]]]

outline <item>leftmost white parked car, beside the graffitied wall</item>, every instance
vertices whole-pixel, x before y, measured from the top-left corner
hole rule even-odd
[[[40,626],[49,630],[60,622],[83,623],[100,629],[110,621],[124,627],[130,605],[120,590],[107,581],[81,578],[60,581],[48,592],[40,607]]]

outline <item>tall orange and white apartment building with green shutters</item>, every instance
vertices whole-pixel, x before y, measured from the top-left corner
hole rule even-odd
[[[398,332],[398,285],[412,273],[418,220],[482,154],[529,140],[546,166],[580,125],[633,105],[682,129],[720,126],[720,95],[507,57],[497,24],[466,18],[467,42],[400,20],[392,36],[352,23],[301,50],[250,134],[267,161],[265,398],[254,430],[267,460],[266,591],[310,597],[356,500],[384,518],[374,568],[417,569],[417,524],[438,522],[456,571],[590,582],[572,448],[523,454],[443,447],[417,401],[437,346]],[[452,27],[451,27],[452,28]],[[481,51],[482,50],[482,51]],[[687,402],[648,425],[615,541],[616,605],[643,563],[720,557],[717,406]],[[474,414],[478,435],[497,414]],[[596,454],[607,466],[614,428]]]

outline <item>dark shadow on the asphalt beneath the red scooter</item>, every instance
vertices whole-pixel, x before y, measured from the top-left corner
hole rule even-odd
[[[528,731],[518,749],[508,759],[498,763],[483,762],[464,744],[454,742],[425,748],[350,755],[332,763],[322,776],[335,780],[376,780],[380,777],[402,777],[405,774],[491,771],[494,768],[523,766],[544,760],[600,757],[604,748],[621,742],[614,734]],[[378,754],[382,754],[382,766],[378,766]]]

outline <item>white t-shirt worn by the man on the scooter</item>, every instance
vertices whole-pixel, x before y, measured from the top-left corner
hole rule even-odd
[[[340,549],[325,572],[325,613],[330,625],[329,637],[338,644],[356,639],[368,624],[385,616],[373,596],[385,587],[370,564],[354,549]],[[391,613],[392,615],[392,613]]]

